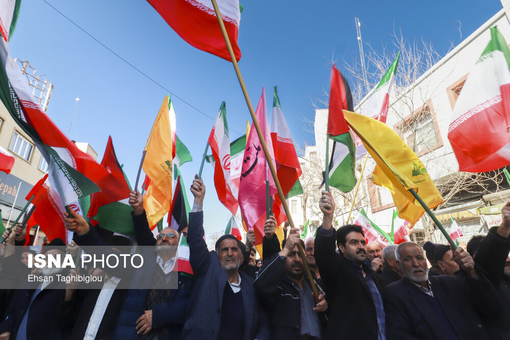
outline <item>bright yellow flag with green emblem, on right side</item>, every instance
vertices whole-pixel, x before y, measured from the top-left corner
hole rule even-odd
[[[372,182],[391,191],[400,218],[414,225],[425,213],[409,192],[411,189],[429,208],[444,202],[418,156],[388,125],[345,110],[344,116],[377,164]]]

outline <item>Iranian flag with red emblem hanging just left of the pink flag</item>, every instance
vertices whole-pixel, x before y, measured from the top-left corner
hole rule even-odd
[[[239,207],[237,201],[238,188],[232,186],[230,178],[231,150],[224,101],[221,103],[218,116],[216,117],[207,142],[211,145],[211,151],[213,152],[215,161],[214,186],[218,193],[218,199],[234,215]]]

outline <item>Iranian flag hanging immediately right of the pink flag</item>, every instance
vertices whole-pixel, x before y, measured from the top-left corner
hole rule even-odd
[[[298,188],[296,188],[297,191],[301,187],[298,178],[301,176],[302,171],[299,160],[297,159],[296,148],[294,147],[289,126],[287,125],[282,107],[280,106],[280,99],[276,92],[276,86],[273,90],[271,142],[273,144],[274,160],[276,162],[276,174],[282,186],[282,191],[284,195],[287,196],[296,183],[298,184]],[[293,193],[293,196],[295,196],[295,193]],[[275,195],[274,197],[273,212],[276,218],[276,225],[282,224],[287,219],[279,195]]]

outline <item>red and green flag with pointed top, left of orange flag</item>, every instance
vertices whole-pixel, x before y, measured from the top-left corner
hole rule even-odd
[[[101,228],[134,238],[135,229],[131,217],[133,208],[129,204],[131,186],[118,163],[111,137],[108,139],[101,165],[109,169],[111,180],[122,190],[122,195],[103,191],[93,193],[87,217],[94,226],[99,225]]]

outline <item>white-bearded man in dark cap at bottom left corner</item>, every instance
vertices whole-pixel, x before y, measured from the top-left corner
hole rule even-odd
[[[61,239],[54,239],[44,246],[43,254],[64,255],[65,244]],[[42,282],[37,289],[30,289],[25,281],[14,295],[14,302],[7,318],[0,323],[0,339],[60,339],[58,313],[65,282],[60,282],[55,275],[62,272],[60,268],[41,268]]]

